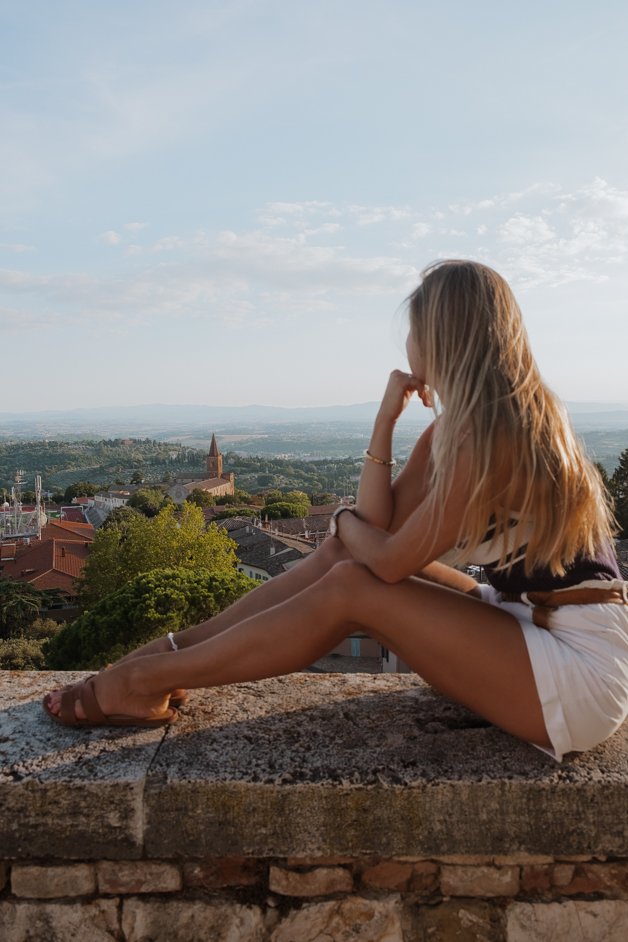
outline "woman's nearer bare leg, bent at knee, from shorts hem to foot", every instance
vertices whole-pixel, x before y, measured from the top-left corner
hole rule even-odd
[[[512,615],[424,580],[384,583],[352,560],[193,650],[138,658],[99,675],[97,697],[105,713],[155,715],[172,686],[218,686],[303,669],[355,623],[442,693],[515,736],[550,745]]]

